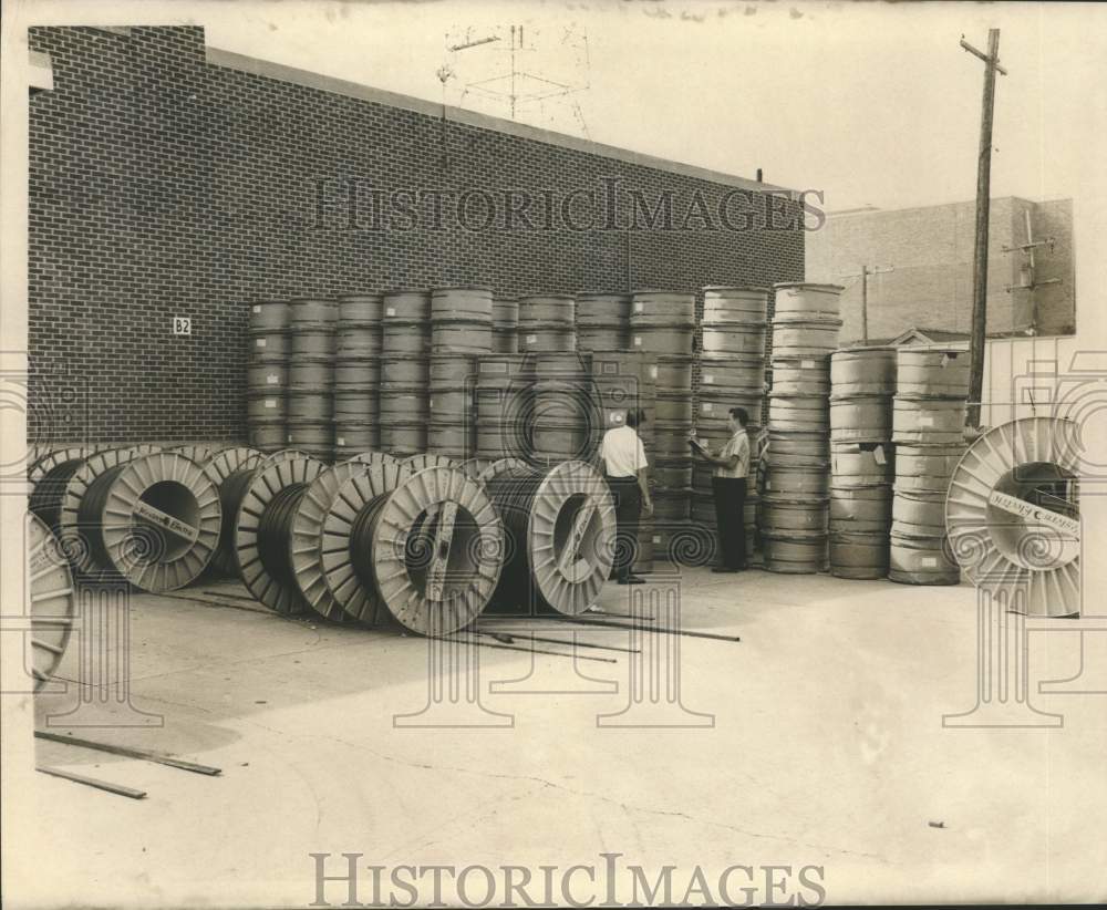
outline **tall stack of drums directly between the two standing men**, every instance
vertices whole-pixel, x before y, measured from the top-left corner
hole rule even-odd
[[[653,555],[675,559],[675,542],[687,530],[692,496],[692,351],[695,294],[635,291],[630,314],[631,351],[656,368],[653,424]]]

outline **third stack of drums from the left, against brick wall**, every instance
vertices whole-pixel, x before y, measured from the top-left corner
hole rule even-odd
[[[339,461],[381,444],[381,320],[379,293],[339,298],[334,351],[334,454]]]

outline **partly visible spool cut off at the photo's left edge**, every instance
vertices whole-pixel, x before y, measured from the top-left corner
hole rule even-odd
[[[31,675],[34,691],[58,670],[76,614],[76,592],[69,560],[58,538],[33,514],[25,517],[25,596],[31,617]]]

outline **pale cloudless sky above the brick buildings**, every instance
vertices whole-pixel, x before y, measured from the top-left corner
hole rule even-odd
[[[208,44],[432,101],[824,192],[827,209],[975,195],[985,48],[1001,29],[992,195],[1076,196],[1107,131],[1107,8],[1064,3],[589,2],[113,3],[22,0],[46,21],[201,23]],[[54,11],[58,11],[56,13]],[[499,40],[451,52],[449,45]],[[451,68],[445,87],[438,71]],[[552,86],[554,91],[560,91]],[[1090,135],[1089,135],[1090,131]],[[1090,139],[1095,139],[1089,142]]]

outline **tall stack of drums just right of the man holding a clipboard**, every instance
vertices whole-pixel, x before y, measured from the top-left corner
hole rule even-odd
[[[768,470],[762,503],[765,568],[818,572],[827,562],[830,354],[838,285],[782,283],[773,314]]]

